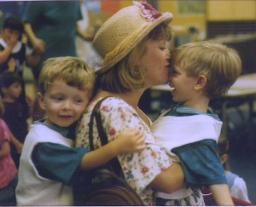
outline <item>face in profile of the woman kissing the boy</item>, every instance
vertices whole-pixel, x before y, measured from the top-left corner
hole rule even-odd
[[[167,48],[167,41],[149,39],[146,42],[146,52],[139,64],[146,71],[147,88],[166,83],[170,74],[170,51]]]

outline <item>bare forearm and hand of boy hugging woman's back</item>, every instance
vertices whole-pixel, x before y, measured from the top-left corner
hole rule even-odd
[[[91,170],[106,164],[121,153],[138,152],[145,148],[144,136],[139,129],[127,129],[107,145],[84,155],[81,161],[83,170]]]

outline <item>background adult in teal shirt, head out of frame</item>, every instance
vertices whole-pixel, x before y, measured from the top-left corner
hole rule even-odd
[[[28,45],[42,53],[38,66],[32,67],[36,87],[45,60],[52,57],[77,56],[75,37],[91,39],[80,29],[82,20],[79,1],[29,1],[22,16]],[[33,119],[44,117],[36,100]]]

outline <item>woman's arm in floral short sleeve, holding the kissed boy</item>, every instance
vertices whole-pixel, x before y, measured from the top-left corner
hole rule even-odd
[[[129,175],[131,173],[131,177],[137,178],[131,179],[131,182],[137,180],[138,183],[134,185],[138,187],[143,184],[145,187],[150,185],[166,193],[175,192],[183,187],[184,175],[181,165],[172,163],[166,151],[155,143],[148,125],[135,115],[136,112],[134,112],[133,107],[116,100],[113,100],[115,105],[113,107],[111,102],[108,103],[107,101],[108,99],[106,102],[102,102],[102,110],[104,108],[106,110],[101,111],[104,117],[103,127],[105,126],[105,129],[119,131],[137,126],[142,129],[145,136],[146,148],[142,152],[125,154],[119,158],[123,169],[126,169],[125,172]],[[106,107],[104,107],[104,104]],[[107,131],[107,134],[109,134],[109,131]],[[108,139],[113,140],[113,137]]]

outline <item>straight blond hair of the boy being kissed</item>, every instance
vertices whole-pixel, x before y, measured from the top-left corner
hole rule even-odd
[[[181,66],[190,77],[206,76],[210,99],[226,94],[241,74],[240,55],[221,43],[183,44],[172,51],[172,64]]]

